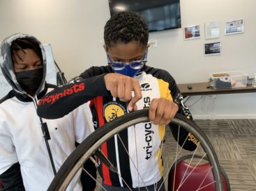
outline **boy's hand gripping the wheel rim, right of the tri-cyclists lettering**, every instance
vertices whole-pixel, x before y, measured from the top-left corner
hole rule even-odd
[[[179,106],[172,100],[153,99],[149,106],[149,120],[153,124],[169,124],[178,110]]]

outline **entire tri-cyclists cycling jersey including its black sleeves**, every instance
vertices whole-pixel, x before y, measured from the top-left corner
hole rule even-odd
[[[161,72],[159,73],[158,71],[156,74],[160,76]],[[47,118],[61,117],[69,113],[73,108],[92,99],[93,123],[98,128],[116,117],[128,113],[126,103],[110,97],[110,94],[104,90],[104,82],[100,78],[102,76],[88,78],[50,92],[50,94],[47,94],[45,98],[40,100],[38,114]],[[151,100],[154,98],[164,97],[172,100],[170,83],[145,72],[141,72],[135,78],[140,81],[142,90],[142,99],[137,102],[138,109],[148,108]],[[176,89],[176,92],[179,91]],[[119,133],[132,159],[127,156],[126,151],[121,147],[121,142],[115,140],[115,138],[103,144],[102,151],[116,165],[126,183],[131,187],[137,188],[144,186],[144,183],[152,185],[162,177],[163,169],[159,148],[163,141],[165,127],[151,123],[142,123],[135,126],[139,128],[130,127],[126,131]],[[175,138],[177,136],[177,128],[175,126],[172,126],[172,132]],[[182,138],[180,137],[179,140],[186,139],[188,132],[184,130],[180,131],[180,133]],[[190,150],[195,149],[195,144],[190,140],[186,141],[186,145]],[[133,165],[132,161],[136,161],[139,164],[139,171],[142,173],[141,176],[143,176],[144,183],[140,181],[141,178],[138,181],[137,165]],[[102,165],[101,161],[99,163],[100,167],[98,169],[101,176],[103,176],[105,184],[126,187],[126,184],[120,180],[117,174],[110,172],[105,165]]]

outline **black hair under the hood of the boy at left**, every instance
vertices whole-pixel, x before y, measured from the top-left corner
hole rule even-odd
[[[14,58],[13,55],[15,55],[17,51],[22,51],[23,53],[26,53],[24,49],[32,49],[36,52],[40,60],[43,60],[42,51],[40,49],[40,42],[33,38],[17,38],[16,40],[14,40],[10,45],[10,52],[12,53],[12,58]]]

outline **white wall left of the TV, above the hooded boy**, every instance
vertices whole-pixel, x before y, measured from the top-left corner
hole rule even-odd
[[[70,79],[95,63],[105,63],[100,40],[109,17],[106,0],[1,0],[0,41],[21,32],[50,43]]]

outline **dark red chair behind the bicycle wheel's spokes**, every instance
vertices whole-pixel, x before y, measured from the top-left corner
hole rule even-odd
[[[175,164],[172,165],[168,175],[168,191],[178,190],[179,191],[215,191],[213,174],[211,172],[211,166],[206,158],[203,160],[206,161],[204,164],[199,164],[197,167],[193,164],[186,163],[186,159],[192,158],[192,155],[183,156],[176,161],[176,170]],[[202,158],[202,156],[193,156],[193,158]],[[195,167],[195,169],[194,169]],[[174,181],[174,171],[175,171],[175,181]],[[191,174],[190,174],[191,173]],[[227,174],[224,171],[223,167],[220,167],[220,176],[223,181],[223,191],[230,191],[229,179]],[[184,176],[185,174],[185,176]],[[188,176],[188,174],[190,174]],[[186,181],[180,186],[180,183],[183,181],[183,176],[186,178]],[[205,178],[205,179],[204,179]],[[202,183],[203,181],[203,183]],[[200,188],[200,189],[199,189]]]

